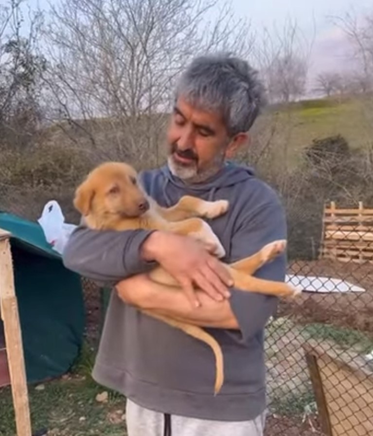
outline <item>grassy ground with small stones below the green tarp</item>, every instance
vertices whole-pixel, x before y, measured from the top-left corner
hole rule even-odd
[[[95,383],[91,376],[93,352],[82,350],[70,378],[43,383],[44,389],[29,386],[33,432],[49,430],[51,436],[124,436],[125,399]],[[106,403],[96,395],[108,392]],[[10,388],[0,390],[0,436],[15,436]]]

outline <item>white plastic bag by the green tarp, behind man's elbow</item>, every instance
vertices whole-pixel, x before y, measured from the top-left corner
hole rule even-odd
[[[66,242],[76,226],[65,223],[65,217],[57,201],[48,201],[37,222],[42,227],[44,236],[47,242],[52,245],[53,250],[62,254]]]

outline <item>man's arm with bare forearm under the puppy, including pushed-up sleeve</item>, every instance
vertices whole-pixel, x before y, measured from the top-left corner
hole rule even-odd
[[[284,211],[277,201],[261,206],[244,219],[232,238],[233,260],[255,253],[276,239],[286,239]],[[267,280],[284,281],[286,256],[280,255],[254,275]],[[136,291],[134,291],[136,290]],[[117,286],[120,297],[134,306],[169,315],[201,327],[236,329],[243,341],[263,330],[277,308],[273,296],[231,288],[231,296],[222,302],[198,292],[201,307],[192,308],[185,295],[167,286],[155,284],[146,275],[124,280]]]

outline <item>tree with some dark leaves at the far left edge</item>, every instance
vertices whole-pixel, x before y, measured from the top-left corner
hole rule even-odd
[[[40,91],[43,57],[36,55],[40,15],[31,14],[22,36],[20,0],[0,5],[0,141],[2,146],[29,144],[41,122]]]

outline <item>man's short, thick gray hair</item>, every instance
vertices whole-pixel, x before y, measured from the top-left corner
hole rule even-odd
[[[199,109],[218,111],[230,136],[249,131],[266,102],[258,72],[231,54],[196,57],[179,78],[179,96]]]

